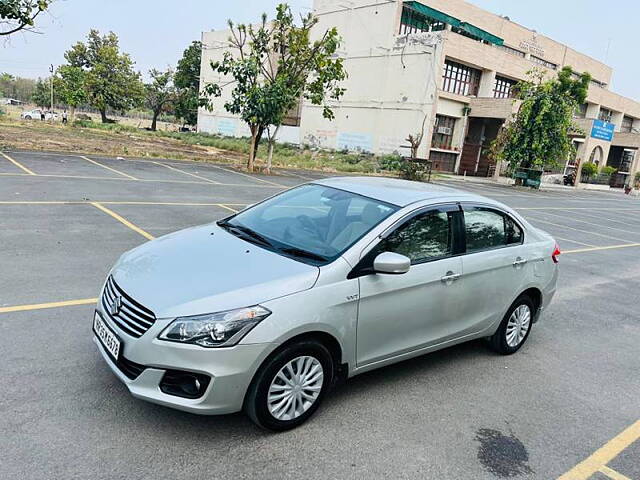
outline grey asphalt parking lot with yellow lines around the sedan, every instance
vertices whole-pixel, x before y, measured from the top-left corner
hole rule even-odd
[[[565,252],[515,356],[472,342],[363,374],[277,435],[129,396],[91,341],[119,255],[320,176],[1,154],[0,478],[640,479],[640,200],[618,193],[442,182],[514,207]]]

